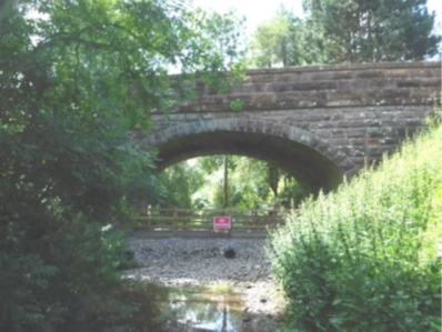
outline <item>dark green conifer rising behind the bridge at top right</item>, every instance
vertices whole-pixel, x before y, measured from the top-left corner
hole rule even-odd
[[[426,0],[305,0],[308,61],[422,61],[438,52]]]

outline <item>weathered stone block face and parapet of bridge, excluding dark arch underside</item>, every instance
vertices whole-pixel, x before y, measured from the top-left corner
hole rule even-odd
[[[351,175],[424,123],[442,91],[442,63],[251,70],[229,94],[194,88],[195,100],[152,113],[152,131],[139,135],[147,149],[161,154],[162,144],[201,132],[258,132],[311,147]]]

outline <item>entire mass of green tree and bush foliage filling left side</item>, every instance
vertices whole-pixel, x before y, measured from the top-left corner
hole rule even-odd
[[[0,330],[132,331],[155,309],[122,283],[125,245],[111,225],[131,197],[160,199],[153,155],[132,130],[183,97],[172,66],[214,84],[237,68],[234,40],[220,62],[225,49],[201,27],[222,17],[209,22],[185,1],[1,8]]]

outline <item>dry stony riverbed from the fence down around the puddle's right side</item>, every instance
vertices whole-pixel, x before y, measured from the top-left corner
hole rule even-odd
[[[225,288],[241,296],[240,324],[227,331],[278,331],[284,306],[271,274],[262,239],[131,239],[130,251],[140,268],[127,278],[168,288]],[[233,249],[235,256],[224,256]],[[220,304],[221,305],[221,304]],[[238,308],[237,308],[238,309]],[[219,331],[181,322],[171,331]]]

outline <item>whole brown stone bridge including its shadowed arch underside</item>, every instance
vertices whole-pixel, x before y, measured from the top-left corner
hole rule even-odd
[[[311,192],[330,190],[379,161],[424,123],[442,91],[442,63],[380,63],[250,70],[229,94],[153,113],[147,150],[158,170],[210,154],[274,162]],[[233,111],[231,103],[242,103]]]

